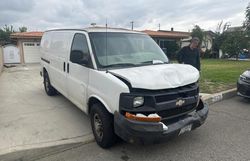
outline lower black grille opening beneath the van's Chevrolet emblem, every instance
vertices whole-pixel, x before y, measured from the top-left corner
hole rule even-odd
[[[167,109],[157,112],[162,118],[174,117],[176,115],[185,114],[187,112],[193,111],[196,108],[196,103],[189,104],[187,106],[176,107],[172,109]]]

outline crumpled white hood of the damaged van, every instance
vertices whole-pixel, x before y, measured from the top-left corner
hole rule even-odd
[[[133,88],[168,89],[198,81],[199,71],[191,65],[158,64],[126,69],[113,69],[109,73],[127,80]]]

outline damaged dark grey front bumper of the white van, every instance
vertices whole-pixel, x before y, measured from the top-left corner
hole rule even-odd
[[[208,105],[203,104],[203,107],[200,110],[193,111],[186,116],[180,117],[176,122],[167,124],[167,130],[163,129],[163,125],[160,122],[129,120],[119,112],[115,112],[115,133],[123,140],[130,143],[157,143],[170,136],[179,135],[181,129],[188,125],[192,125],[191,130],[201,126],[208,116],[208,111]]]

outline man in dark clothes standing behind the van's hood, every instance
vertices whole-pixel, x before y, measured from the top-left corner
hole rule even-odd
[[[190,45],[183,47],[177,54],[179,63],[189,64],[200,71],[200,52],[198,49],[199,38],[193,37]]]

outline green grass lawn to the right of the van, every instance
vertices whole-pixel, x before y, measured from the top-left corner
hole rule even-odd
[[[250,61],[203,59],[201,60],[200,91],[216,93],[235,88],[240,74],[249,68]]]

